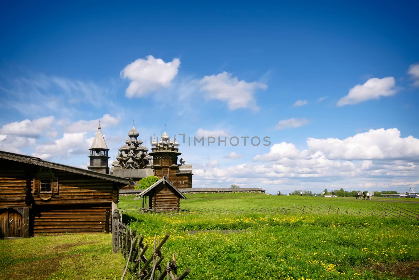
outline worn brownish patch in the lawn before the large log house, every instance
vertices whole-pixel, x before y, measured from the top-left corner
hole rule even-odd
[[[20,262],[13,266],[13,271],[7,276],[7,279],[33,279],[41,280],[50,277],[59,270],[60,262],[68,258],[78,258],[81,255],[54,255],[45,256],[36,261]]]

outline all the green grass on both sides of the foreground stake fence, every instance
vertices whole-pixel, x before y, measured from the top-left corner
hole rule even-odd
[[[140,214],[141,200],[121,197],[128,226],[145,235],[171,233],[163,255],[177,254],[186,279],[418,279],[419,220],[396,217],[215,213]],[[314,207],[365,210],[384,200],[419,209],[412,199],[373,199],[264,194],[188,195],[181,208],[249,209]],[[130,206],[131,205],[131,206]],[[39,236],[0,241],[0,279],[120,279],[121,254],[111,253],[111,235]],[[149,255],[146,254],[148,257]],[[130,279],[130,277],[126,277]]]

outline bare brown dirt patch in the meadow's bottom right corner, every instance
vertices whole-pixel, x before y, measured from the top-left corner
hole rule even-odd
[[[378,263],[371,267],[383,275],[392,275],[399,278],[419,280],[419,262],[397,262],[395,264]]]

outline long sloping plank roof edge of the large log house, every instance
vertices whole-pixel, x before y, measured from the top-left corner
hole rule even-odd
[[[103,180],[109,180],[109,181],[121,183],[124,185],[129,185],[131,183],[129,179],[120,178],[120,177],[116,177],[113,175],[96,172],[92,170],[86,170],[86,169],[82,169],[82,168],[78,168],[74,166],[63,165],[56,162],[49,162],[46,160],[41,160],[39,157],[31,157],[24,154],[15,154],[15,153],[10,153],[10,152],[0,151],[0,158],[5,159],[5,160],[13,160],[17,162],[24,162],[24,163],[32,164],[32,165],[39,165],[43,167],[54,168],[57,170],[67,171],[71,173],[77,173],[80,175],[86,175],[86,176],[95,177],[95,178],[99,178]]]

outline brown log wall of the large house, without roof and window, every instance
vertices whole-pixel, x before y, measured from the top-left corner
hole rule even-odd
[[[39,166],[4,159],[0,166],[0,227],[8,223],[13,236],[111,230],[111,203],[121,183],[52,168],[58,191],[48,199],[33,191]],[[25,217],[12,208],[26,208]]]

